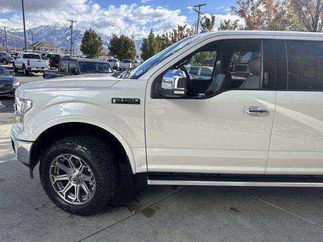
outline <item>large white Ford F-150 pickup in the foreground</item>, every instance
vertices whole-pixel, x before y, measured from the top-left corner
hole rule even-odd
[[[247,75],[233,68],[246,54]],[[114,196],[120,163],[150,185],[323,187],[322,56],[321,33],[218,31],[122,75],[26,83],[13,149],[79,215]]]

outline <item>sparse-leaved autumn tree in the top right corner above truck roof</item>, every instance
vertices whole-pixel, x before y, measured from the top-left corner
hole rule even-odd
[[[287,8],[292,16],[291,30],[322,32],[323,1],[322,0],[286,0]]]

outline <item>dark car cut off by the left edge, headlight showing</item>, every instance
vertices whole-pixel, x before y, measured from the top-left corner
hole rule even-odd
[[[14,76],[15,73],[10,74],[6,68],[0,66],[0,96],[15,95],[20,82]]]

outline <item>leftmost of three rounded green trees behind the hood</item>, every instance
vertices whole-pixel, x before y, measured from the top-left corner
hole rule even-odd
[[[94,57],[100,55],[102,49],[102,38],[91,28],[87,29],[82,38],[80,50],[83,54]]]

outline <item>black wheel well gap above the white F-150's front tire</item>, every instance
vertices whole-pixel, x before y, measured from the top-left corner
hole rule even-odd
[[[35,141],[31,151],[30,168],[33,169],[39,162],[42,153],[54,142],[70,135],[90,135],[101,139],[114,151],[120,163],[129,163],[127,153],[120,141],[110,132],[95,125],[85,123],[64,123],[45,130]]]

